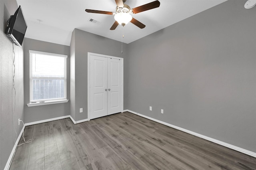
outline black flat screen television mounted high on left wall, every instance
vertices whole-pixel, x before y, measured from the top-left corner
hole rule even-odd
[[[7,21],[5,34],[15,45],[21,47],[27,27],[22,9],[19,6],[14,15],[10,16]]]

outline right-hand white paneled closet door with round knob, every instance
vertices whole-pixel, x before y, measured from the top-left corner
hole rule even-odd
[[[108,58],[108,115],[122,111],[122,61]]]

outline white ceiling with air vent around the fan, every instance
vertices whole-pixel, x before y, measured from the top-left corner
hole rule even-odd
[[[154,0],[127,0],[125,4],[135,8]],[[124,43],[130,43],[176,22],[212,8],[226,0],[159,0],[160,7],[132,15],[146,25],[140,29],[132,23],[124,26]],[[17,0],[28,25],[25,37],[70,45],[74,28],[122,41],[122,26],[110,30],[114,16],[93,14],[85,9],[115,12],[114,0]],[[90,18],[100,24],[88,22]],[[42,22],[39,22],[42,20]]]

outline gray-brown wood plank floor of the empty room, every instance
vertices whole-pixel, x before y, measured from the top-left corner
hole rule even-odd
[[[128,112],[31,125],[24,137],[34,141],[18,146],[10,170],[256,170],[254,157]]]

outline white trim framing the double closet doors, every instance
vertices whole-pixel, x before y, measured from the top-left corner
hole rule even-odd
[[[120,59],[122,61],[122,112],[124,111],[124,59],[121,57],[114,57],[110,55],[103,55],[97,53],[88,52],[87,57],[87,119],[90,121],[90,55],[98,55],[100,57]]]

